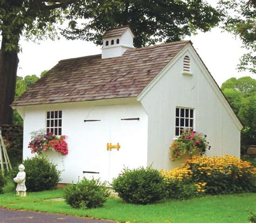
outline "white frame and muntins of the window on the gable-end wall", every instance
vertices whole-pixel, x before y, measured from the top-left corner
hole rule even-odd
[[[179,110],[179,115],[177,116],[177,109]],[[181,117],[181,109],[184,109],[184,117]],[[188,110],[188,117],[186,117],[186,110]],[[191,110],[193,110],[193,117],[191,117]],[[178,125],[177,125],[177,119],[178,119]],[[181,119],[184,119],[184,126],[181,125]],[[186,126],[186,120],[188,120],[188,126]],[[191,120],[192,120],[192,126],[191,126]],[[193,107],[175,107],[175,129],[174,129],[174,136],[178,137],[180,136],[181,129],[193,129],[195,126],[195,109]],[[177,128],[178,128],[178,134],[177,134]]]

